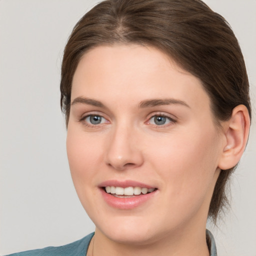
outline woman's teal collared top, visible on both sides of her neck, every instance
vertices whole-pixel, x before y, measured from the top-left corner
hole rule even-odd
[[[90,233],[78,241],[63,246],[46,247],[9,254],[8,256],[85,256],[89,242],[94,233]],[[206,241],[210,256],[217,256],[216,245],[212,233],[206,229]]]

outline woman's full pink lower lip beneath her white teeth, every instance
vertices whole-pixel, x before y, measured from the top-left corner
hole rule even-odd
[[[145,203],[146,201],[150,200],[150,198],[152,198],[155,195],[157,189],[151,193],[140,194],[133,197],[125,197],[125,198],[115,197],[105,192],[105,190],[102,188],[100,188],[100,191],[104,200],[107,202],[108,205],[114,208],[127,210],[127,209],[136,208],[141,204]]]

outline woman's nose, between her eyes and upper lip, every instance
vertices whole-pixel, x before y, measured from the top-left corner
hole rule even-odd
[[[116,127],[108,137],[105,163],[116,170],[141,166],[143,155],[138,134],[130,127]]]

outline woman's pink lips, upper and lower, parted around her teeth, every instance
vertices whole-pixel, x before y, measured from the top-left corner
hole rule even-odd
[[[147,194],[140,194],[140,195],[134,195],[132,197],[115,197],[111,195],[110,193],[105,192],[105,189],[103,187],[105,186],[120,186],[120,187],[128,187],[128,186],[139,186],[139,187],[147,187],[147,188],[152,188],[152,186],[137,182],[137,181],[132,181],[132,180],[125,180],[125,181],[117,181],[117,180],[107,180],[99,184],[100,187],[100,192],[105,200],[105,202],[114,208],[118,209],[133,209],[136,208],[144,203],[146,203],[148,200],[152,199],[156,194],[158,189],[155,189],[151,193]]]

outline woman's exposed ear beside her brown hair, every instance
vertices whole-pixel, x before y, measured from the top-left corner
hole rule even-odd
[[[247,143],[249,127],[247,107],[244,105],[234,107],[230,119],[223,125],[225,140],[218,163],[220,169],[229,169],[238,163]]]

